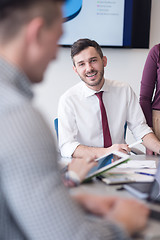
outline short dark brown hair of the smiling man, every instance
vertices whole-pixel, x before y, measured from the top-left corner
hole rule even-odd
[[[99,44],[96,41],[90,40],[88,38],[81,38],[81,39],[77,40],[76,42],[74,42],[71,47],[72,60],[75,55],[77,55],[82,50],[84,50],[88,47],[94,47],[96,49],[96,51],[98,52],[99,56],[101,58],[103,58],[103,53],[102,53],[101,47],[99,46]],[[73,60],[73,63],[74,63],[74,60]]]

